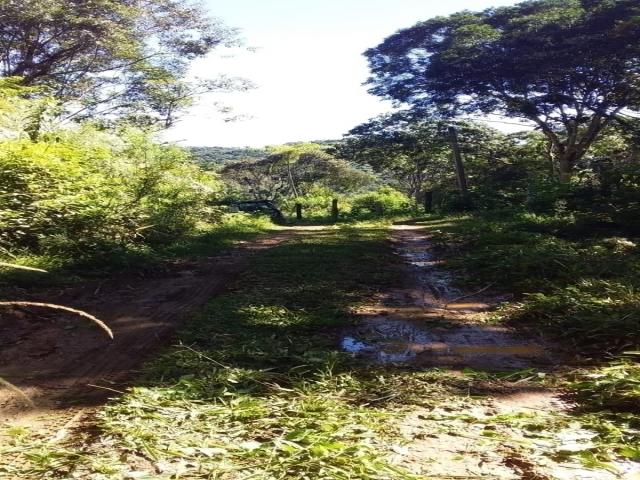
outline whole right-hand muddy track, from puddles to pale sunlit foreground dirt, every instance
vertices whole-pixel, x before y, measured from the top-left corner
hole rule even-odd
[[[454,278],[421,227],[397,225],[392,241],[404,265],[404,282],[356,312],[357,326],[341,339],[344,350],[382,365],[442,367],[453,375],[465,369],[552,374],[571,363],[559,347],[533,332],[523,335],[493,324],[491,312],[509,297],[492,292],[491,285],[477,291],[454,287]],[[400,425],[406,443],[394,462],[424,478],[640,480],[640,466],[631,462],[616,464],[614,473],[545,455],[523,455],[521,447],[530,440],[517,428],[493,423],[500,416],[569,414],[574,405],[561,390],[492,381],[474,393],[479,400],[470,392],[468,400],[443,398],[434,408],[411,411]],[[590,432],[578,428],[561,434],[568,445],[582,448]]]

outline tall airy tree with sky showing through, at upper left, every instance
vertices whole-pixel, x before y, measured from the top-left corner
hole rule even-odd
[[[0,75],[46,87],[76,117],[127,113],[169,125],[194,95],[245,87],[184,80],[189,61],[237,42],[190,0],[0,2]]]

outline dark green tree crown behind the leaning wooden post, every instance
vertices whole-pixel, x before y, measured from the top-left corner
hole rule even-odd
[[[497,130],[469,121],[425,120],[409,112],[382,115],[353,128],[339,152],[370,166],[420,202],[425,191],[457,190],[447,133],[451,125],[458,130],[472,184],[486,186],[492,174],[499,178],[500,170],[513,158],[514,142]]]

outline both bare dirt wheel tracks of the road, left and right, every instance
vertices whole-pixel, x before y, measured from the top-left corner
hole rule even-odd
[[[45,300],[89,310],[106,321],[114,330],[113,342],[67,315],[41,310],[3,314],[0,377],[17,385],[35,408],[15,392],[0,390],[0,422],[28,426],[52,441],[90,424],[83,419],[90,419],[95,406],[125,389],[141,362],[167,343],[186,316],[237,278],[252,252],[314,230],[321,229],[288,229],[224,255],[170,265],[154,278],[111,279],[48,293]],[[419,373],[442,367],[444,374],[461,378],[468,375],[464,369],[480,376],[500,370],[535,376],[563,363],[543,339],[488,321],[505,297],[491,288],[455,288],[422,227],[395,226],[392,241],[404,281],[356,311],[359,322],[340,339],[344,350],[385,368],[403,365]],[[567,416],[572,406],[543,383],[487,378],[486,386],[474,383],[481,391],[466,396],[443,391],[430,399],[431,407],[403,411],[398,422],[403,438],[392,461],[418,478],[638,479],[630,463],[615,465],[619,473],[612,473],[545,455],[549,437],[537,431],[532,437],[519,422],[540,418],[546,428],[547,417]],[[590,433],[578,427],[557,434],[568,446],[581,448]]]

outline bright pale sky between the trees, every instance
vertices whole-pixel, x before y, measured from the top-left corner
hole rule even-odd
[[[369,95],[362,52],[396,30],[437,15],[510,0],[208,0],[246,45],[198,60],[191,74],[242,76],[258,88],[202,98],[166,135],[182,145],[264,146],[340,138],[391,107]],[[225,122],[214,103],[244,119]]]

